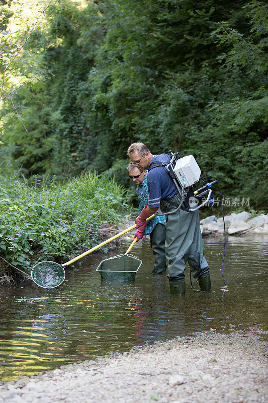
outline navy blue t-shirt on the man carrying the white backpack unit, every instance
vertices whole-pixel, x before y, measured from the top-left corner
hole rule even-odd
[[[167,154],[154,155],[149,164],[153,162],[169,162],[170,157]],[[178,193],[173,180],[165,167],[155,167],[148,172],[147,185],[149,191],[148,207],[155,208],[160,206],[160,200],[173,197]]]

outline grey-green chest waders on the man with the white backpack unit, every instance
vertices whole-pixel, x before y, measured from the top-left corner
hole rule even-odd
[[[156,167],[166,166],[155,161],[150,164],[148,172]],[[168,169],[167,169],[168,171]],[[170,172],[168,171],[169,175]],[[170,175],[176,188],[178,184]],[[165,254],[168,259],[168,279],[170,293],[185,295],[185,268],[188,261],[194,278],[198,279],[200,289],[210,292],[209,265],[204,256],[204,245],[200,231],[199,211],[194,199],[194,191],[183,185],[174,196],[160,201],[161,213],[166,216]]]

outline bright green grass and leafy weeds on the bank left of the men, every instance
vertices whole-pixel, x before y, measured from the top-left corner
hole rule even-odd
[[[123,188],[96,174],[64,184],[0,175],[0,192],[0,285],[20,274],[7,262],[30,273],[37,261],[95,246],[125,206]]]

